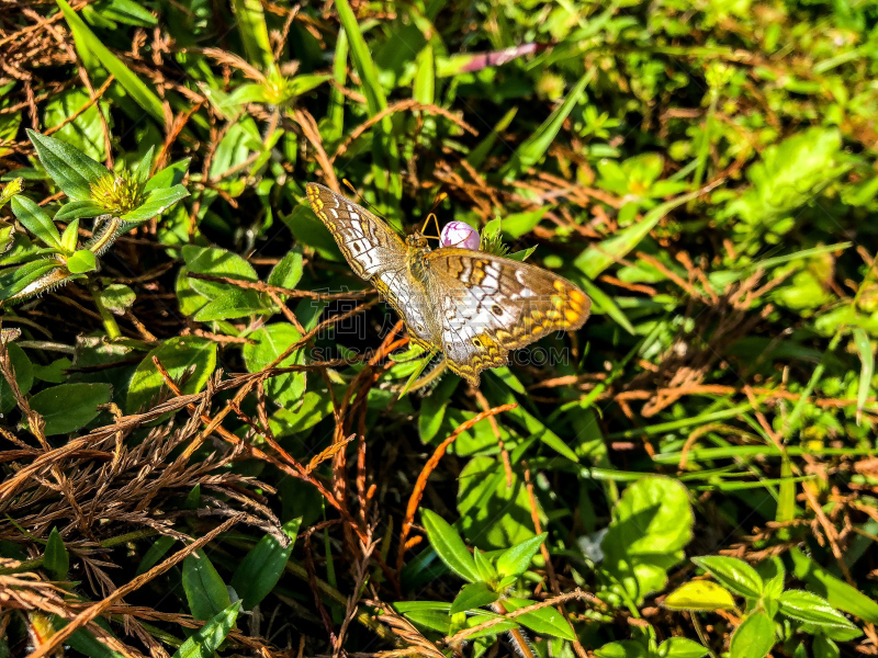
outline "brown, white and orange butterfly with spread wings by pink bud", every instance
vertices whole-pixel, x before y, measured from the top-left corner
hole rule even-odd
[[[308,203],[358,276],[405,320],[410,340],[444,353],[453,373],[480,373],[555,330],[575,330],[592,300],[570,281],[508,258],[440,247],[415,230],[405,241],[380,217],[317,183]]]

